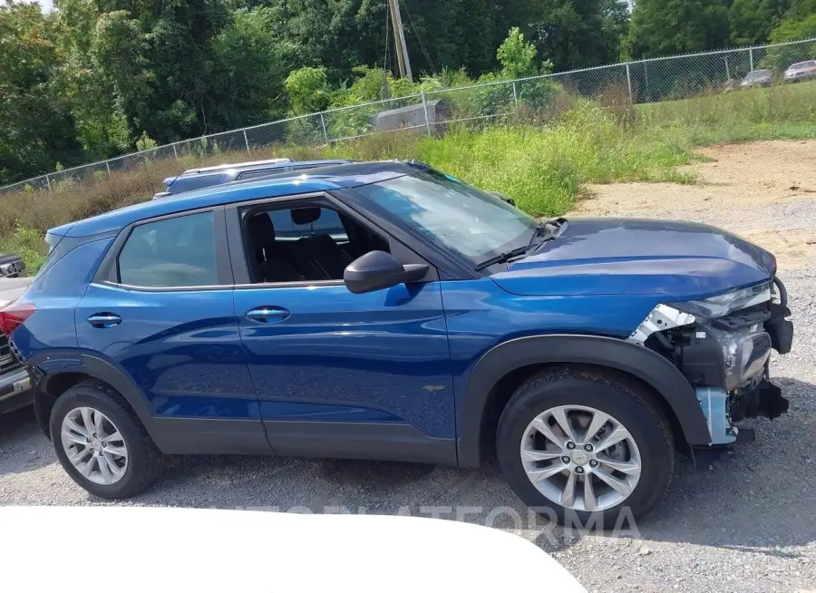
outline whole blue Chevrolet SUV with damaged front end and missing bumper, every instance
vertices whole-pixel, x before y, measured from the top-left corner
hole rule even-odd
[[[278,232],[339,219],[335,234]],[[65,471],[105,498],[162,454],[490,455],[530,507],[611,525],[675,451],[777,416],[773,256],[716,228],[539,221],[417,163],[152,200],[47,234],[0,313]],[[597,514],[595,514],[597,513]]]

